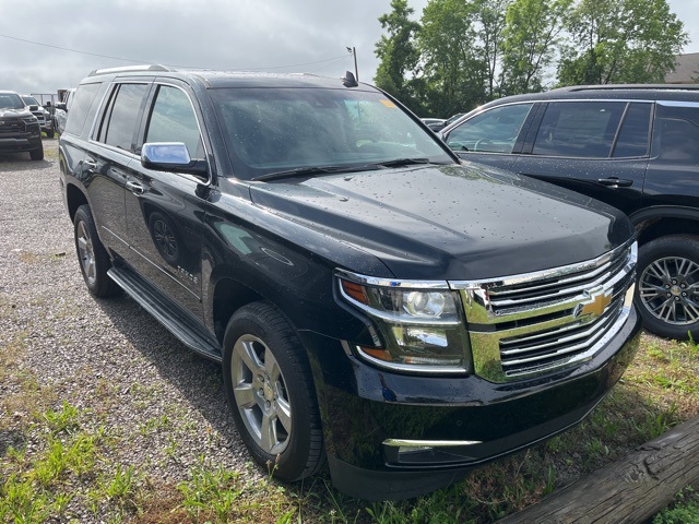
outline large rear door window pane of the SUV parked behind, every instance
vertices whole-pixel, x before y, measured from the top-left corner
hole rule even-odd
[[[549,103],[532,154],[606,158],[625,109],[623,102]]]

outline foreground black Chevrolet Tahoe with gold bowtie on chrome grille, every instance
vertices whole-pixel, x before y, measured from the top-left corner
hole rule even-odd
[[[436,489],[579,422],[638,347],[621,212],[462,164],[351,73],[95,71],[59,157],[90,291],[222,362],[282,479]]]

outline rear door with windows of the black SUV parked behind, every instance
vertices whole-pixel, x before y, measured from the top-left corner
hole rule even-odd
[[[550,102],[512,169],[630,214],[642,204],[652,109],[637,102]]]

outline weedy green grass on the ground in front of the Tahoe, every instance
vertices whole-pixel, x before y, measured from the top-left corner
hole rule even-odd
[[[182,426],[183,413],[177,406],[134,420],[119,440],[109,439],[99,425],[108,420],[109,403],[102,403],[95,412],[79,410],[67,402],[36,409],[47,406],[45,391],[16,364],[26,350],[26,337],[16,334],[11,346],[11,352],[0,353],[0,364],[7,364],[10,370],[4,372],[22,384],[15,402],[24,403],[22,408],[31,409],[33,416],[11,421],[23,436],[1,457],[0,522],[70,522],[80,521],[78,515],[92,515],[94,521],[144,524],[486,523],[537,502],[675,425],[699,416],[697,344],[644,335],[642,348],[621,382],[581,425],[424,497],[367,502],[337,492],[323,475],[284,485],[274,479],[273,471],[259,480],[254,472],[227,471],[203,456],[186,468],[186,480],[168,483],[151,478],[149,465],[121,464],[107,457],[114,456],[110,452],[115,446],[131,438],[161,433],[169,437],[161,450],[164,460],[176,458],[192,437],[189,429],[197,429]],[[97,396],[108,397],[109,384],[102,388],[105,391]],[[163,394],[158,386],[138,383],[129,393],[137,408]],[[52,400],[50,394],[47,398]],[[210,434],[216,438],[208,430],[206,438]],[[699,522],[698,515],[697,493],[688,489],[654,522]]]

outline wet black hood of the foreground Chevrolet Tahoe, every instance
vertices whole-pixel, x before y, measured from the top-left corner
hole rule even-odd
[[[474,164],[252,183],[250,193],[271,212],[375,254],[405,279],[568,265],[632,235],[624,214],[605,204]]]

